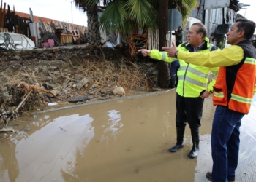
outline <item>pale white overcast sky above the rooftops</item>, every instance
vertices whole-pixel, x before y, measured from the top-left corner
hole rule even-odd
[[[48,17],[54,20],[69,22],[77,25],[87,26],[86,13],[81,12],[75,7],[72,0],[3,0],[10,5],[10,9],[15,11],[29,13],[32,9],[33,15]],[[219,0],[221,1],[221,0]],[[72,3],[71,3],[72,2]],[[251,6],[241,9],[238,13],[256,22],[256,1],[240,0],[240,3],[250,4]],[[71,6],[72,5],[72,6]]]

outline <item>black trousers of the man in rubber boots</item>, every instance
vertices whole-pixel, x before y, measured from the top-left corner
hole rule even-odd
[[[176,127],[189,127],[192,131],[198,132],[201,126],[204,99],[184,98],[176,94]]]

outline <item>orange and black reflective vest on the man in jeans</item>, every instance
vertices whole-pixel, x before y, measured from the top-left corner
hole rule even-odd
[[[251,41],[237,45],[243,48],[244,58],[238,65],[219,68],[213,101],[214,105],[248,114],[256,85],[256,49]]]

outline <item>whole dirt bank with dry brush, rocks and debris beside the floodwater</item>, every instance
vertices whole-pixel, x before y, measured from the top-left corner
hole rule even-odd
[[[151,91],[152,80],[157,80],[154,67],[132,63],[111,49],[96,52],[91,47],[1,52],[0,128],[53,103],[86,103]]]

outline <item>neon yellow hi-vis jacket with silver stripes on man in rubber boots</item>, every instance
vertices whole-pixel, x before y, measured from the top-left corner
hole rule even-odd
[[[218,47],[213,44],[209,44],[208,38],[205,38],[205,44],[197,52],[208,53],[214,50],[219,50]],[[194,48],[191,44],[185,42],[178,46],[179,52],[194,52]],[[151,50],[150,57],[157,60],[164,60],[171,63],[176,58],[170,58],[167,52],[160,52],[159,50]],[[185,98],[197,98],[200,97],[203,90],[212,92],[213,86],[216,82],[216,78],[219,72],[219,67],[209,68],[205,66],[196,66],[191,63],[186,63],[184,60],[179,60],[180,68],[178,68],[178,85],[176,92]],[[213,77],[208,84],[208,75],[212,73]]]

